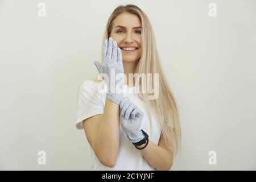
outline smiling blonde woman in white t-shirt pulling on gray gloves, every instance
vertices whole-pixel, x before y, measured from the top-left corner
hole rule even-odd
[[[180,151],[179,113],[147,15],[135,5],[118,6],[103,45],[102,63],[94,61],[103,79],[84,81],[78,95],[76,127],[92,148],[92,170],[170,170]],[[119,73],[125,76],[118,81]],[[157,85],[157,97],[142,92],[145,79],[129,73],[151,74],[146,81]],[[107,92],[99,92],[102,82]],[[121,92],[113,89],[118,84]]]

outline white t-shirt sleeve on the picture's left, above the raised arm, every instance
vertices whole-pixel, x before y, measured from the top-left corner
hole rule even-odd
[[[82,82],[77,95],[77,129],[84,129],[82,125],[84,119],[104,113],[103,99],[101,92],[98,91],[97,82],[90,80]]]

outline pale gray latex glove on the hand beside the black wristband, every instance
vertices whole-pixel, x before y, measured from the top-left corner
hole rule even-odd
[[[132,143],[139,142],[144,138],[144,134],[141,131],[143,111],[135,106],[128,97],[123,98],[120,109],[120,123],[127,138]]]

